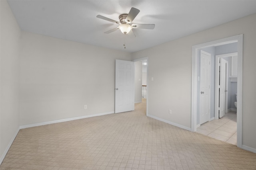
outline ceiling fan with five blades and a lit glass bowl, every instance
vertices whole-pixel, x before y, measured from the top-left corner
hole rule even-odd
[[[118,29],[120,29],[120,31],[124,34],[128,34],[130,31],[132,32],[133,28],[139,28],[139,29],[154,29],[155,24],[142,24],[142,23],[132,23],[132,21],[134,20],[134,18],[139,14],[140,10],[136,9],[136,8],[131,8],[129,14],[121,14],[119,16],[119,20],[120,21],[115,21],[112,20],[110,18],[101,16],[101,15],[97,15],[97,18],[100,18],[102,20],[107,20],[110,22],[114,22],[119,24],[118,27],[114,28],[114,29],[110,29],[109,31],[106,31],[104,33],[112,33]]]

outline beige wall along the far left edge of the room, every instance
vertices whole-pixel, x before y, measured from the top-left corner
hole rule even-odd
[[[0,1],[0,160],[19,129],[19,40],[18,26],[8,3]],[[1,162],[1,161],[0,161]]]

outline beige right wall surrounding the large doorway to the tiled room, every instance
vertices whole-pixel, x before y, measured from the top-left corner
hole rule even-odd
[[[256,14],[253,14],[133,53],[133,59],[149,57],[148,114],[190,128],[192,46],[244,34],[242,145],[256,149],[255,28]],[[172,109],[171,115],[168,109]]]

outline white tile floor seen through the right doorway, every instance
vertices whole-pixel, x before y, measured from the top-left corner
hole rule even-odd
[[[220,119],[206,122],[196,132],[236,145],[236,112],[230,111]]]

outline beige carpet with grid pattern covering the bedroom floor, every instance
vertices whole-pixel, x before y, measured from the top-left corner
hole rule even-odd
[[[136,110],[22,129],[0,170],[256,170],[256,154]]]

